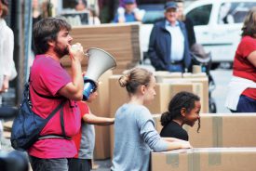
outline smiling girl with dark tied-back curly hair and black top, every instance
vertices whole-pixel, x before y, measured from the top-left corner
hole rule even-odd
[[[168,103],[168,112],[161,115],[161,125],[164,127],[160,136],[189,140],[188,134],[182,128],[182,125],[194,126],[198,120],[197,132],[199,132],[200,110],[201,103],[198,96],[185,91],[177,93]]]

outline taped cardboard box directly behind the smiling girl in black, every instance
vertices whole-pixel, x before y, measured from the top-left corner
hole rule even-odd
[[[160,133],[160,114],[154,114],[155,128]],[[256,113],[200,114],[193,127],[183,125],[189,141],[195,148],[209,147],[256,147]]]

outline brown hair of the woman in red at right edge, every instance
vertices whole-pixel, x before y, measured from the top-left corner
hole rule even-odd
[[[245,18],[242,36],[256,37],[256,7],[252,7]]]

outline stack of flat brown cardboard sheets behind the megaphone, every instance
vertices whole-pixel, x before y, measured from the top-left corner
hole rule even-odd
[[[74,27],[73,43],[80,43],[85,49],[89,47],[101,48],[112,54],[117,62],[114,73],[136,66],[141,60],[139,42],[140,23],[101,24],[99,26]],[[102,61],[104,62],[104,61]],[[61,63],[65,68],[70,67],[70,59],[64,57]],[[88,58],[82,61],[84,69],[87,68]]]

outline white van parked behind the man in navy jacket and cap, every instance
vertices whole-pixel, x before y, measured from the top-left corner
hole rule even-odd
[[[243,20],[251,7],[256,7],[255,0],[198,0],[185,7],[184,13],[194,22],[196,42],[211,52],[212,61],[233,62]],[[145,17],[149,18],[147,11]],[[143,52],[148,49],[152,28],[153,23],[141,24]]]

